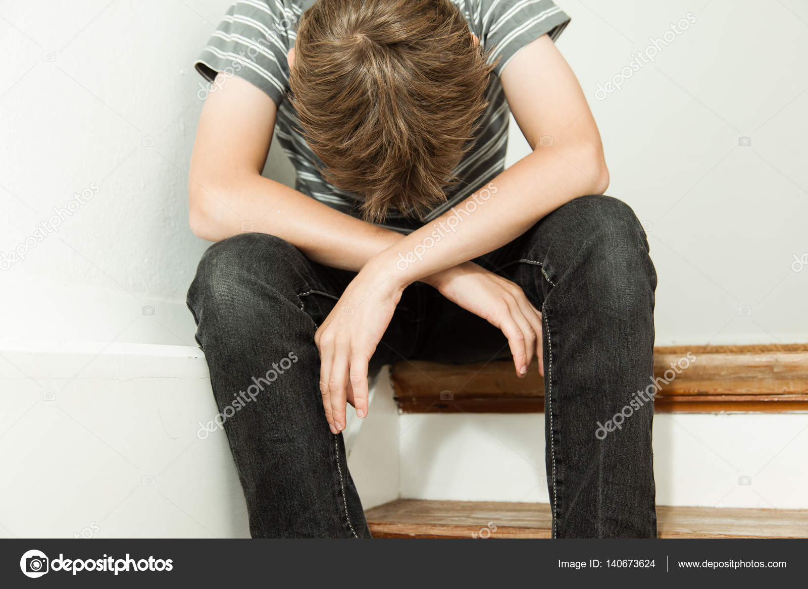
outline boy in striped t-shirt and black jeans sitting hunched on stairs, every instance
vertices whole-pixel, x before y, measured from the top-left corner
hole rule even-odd
[[[656,275],[602,196],[568,22],[549,0],[246,0],[201,53],[190,223],[217,243],[188,305],[252,536],[370,536],[340,433],[368,365],[505,356],[545,377],[553,536],[656,535],[653,404],[595,435],[652,375]],[[503,170],[509,111],[532,152]],[[273,133],[294,190],[261,176]]]

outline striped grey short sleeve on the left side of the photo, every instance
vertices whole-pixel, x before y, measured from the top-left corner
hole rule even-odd
[[[208,82],[220,73],[244,78],[280,106],[298,16],[291,2],[236,2],[196,58],[196,71]]]

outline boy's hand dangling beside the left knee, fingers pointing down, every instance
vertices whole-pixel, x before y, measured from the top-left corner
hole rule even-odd
[[[398,272],[368,262],[314,334],[322,406],[332,433],[345,429],[346,400],[360,418],[368,414],[368,360],[404,290],[393,274]]]

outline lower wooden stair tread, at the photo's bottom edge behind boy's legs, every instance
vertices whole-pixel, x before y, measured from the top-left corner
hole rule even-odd
[[[377,538],[549,538],[552,523],[548,503],[397,499],[365,515]],[[808,510],[660,505],[657,519],[660,538],[808,537]]]

